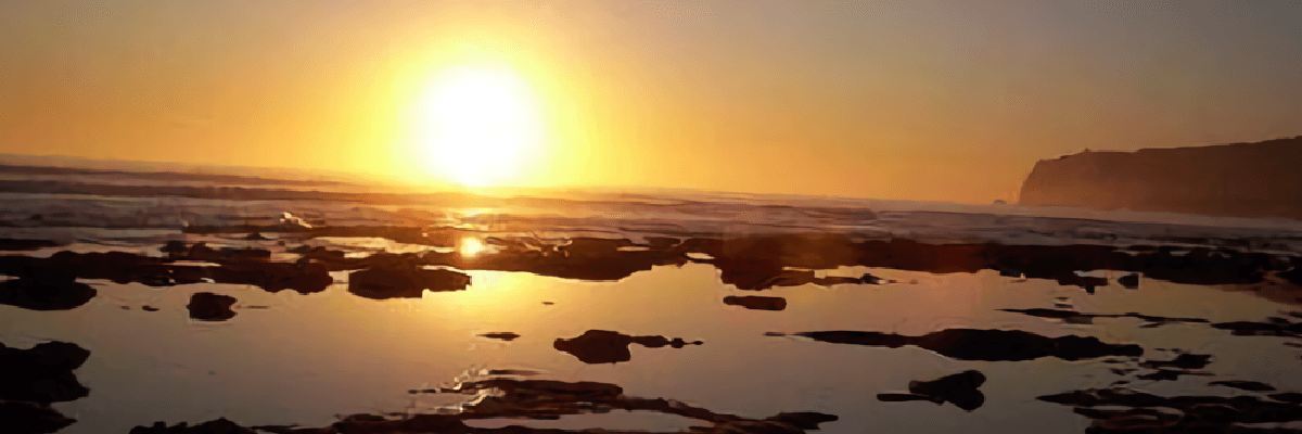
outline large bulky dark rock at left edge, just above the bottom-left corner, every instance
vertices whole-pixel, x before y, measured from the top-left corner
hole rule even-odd
[[[73,370],[90,358],[76,344],[47,341],[30,349],[0,344],[0,401],[61,403],[90,394]]]

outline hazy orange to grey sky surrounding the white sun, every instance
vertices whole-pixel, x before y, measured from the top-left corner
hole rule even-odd
[[[404,177],[453,65],[517,184],[1016,199],[1038,159],[1302,136],[1302,1],[0,1],[0,152]]]

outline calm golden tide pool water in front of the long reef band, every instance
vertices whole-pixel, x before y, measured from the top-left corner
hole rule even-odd
[[[27,347],[42,340],[77,343],[91,358],[77,377],[89,398],[53,407],[78,421],[62,433],[124,433],[152,421],[191,424],[227,417],[241,425],[326,426],[335,414],[427,412],[453,403],[441,395],[410,395],[479,369],[523,368],[542,378],[596,381],[626,395],[667,398],[719,413],[767,417],[823,412],[838,421],[828,433],[1083,431],[1088,420],[1070,407],[1035,400],[1070,390],[1131,386],[1159,395],[1232,395],[1213,379],[1251,379],[1285,391],[1302,390],[1299,351],[1284,338],[1230,336],[1204,323],[1142,328],[1134,318],[1065,325],[996,309],[1053,308],[1068,297],[1085,313],[1137,311],[1211,322],[1262,321],[1294,306],[1246,292],[1142,280],[1141,289],[1108,285],[1087,295],[1039,279],[993,271],[932,275],[842,267],[838,275],[871,272],[901,283],[812,284],[764,291],[788,300],[783,311],[747,310],[721,302],[742,295],[708,265],[655,267],[620,282],[594,283],[526,272],[469,271],[460,292],[426,292],[419,300],[368,300],[337,283],[298,295],[254,287],[189,284],[151,288],[94,282],[99,297],[68,311],[0,306],[0,341]],[[345,272],[333,274],[336,280]],[[910,283],[915,282],[915,283]],[[230,295],[237,315],[207,323],[187,318],[194,292]],[[543,302],[553,302],[544,305]],[[145,311],[150,305],[159,311]],[[129,309],[124,309],[124,306]],[[264,309],[260,306],[266,306]],[[1046,336],[1096,336],[1142,345],[1144,358],[1169,360],[1178,348],[1211,354],[1206,371],[1178,381],[1146,382],[1108,371],[1100,360],[960,361],[915,348],[820,343],[766,332],[822,330],[893,331],[922,335],[941,328],[1017,328]],[[702,340],[685,348],[631,347],[631,361],[587,365],[556,351],[557,338],[586,330]],[[510,331],[501,341],[477,335]],[[974,412],[927,401],[884,403],[881,392],[976,369],[988,377],[986,404]],[[620,422],[615,422],[620,421]],[[487,425],[486,425],[487,424]],[[513,421],[547,427],[611,426],[681,429],[672,416],[613,412],[560,421]],[[595,424],[595,425],[594,425]],[[500,426],[477,422],[475,426]]]

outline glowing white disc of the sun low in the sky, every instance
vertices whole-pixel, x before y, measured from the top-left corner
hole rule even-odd
[[[430,175],[465,186],[518,176],[542,145],[542,116],[527,83],[508,69],[461,66],[422,100],[419,150]]]

